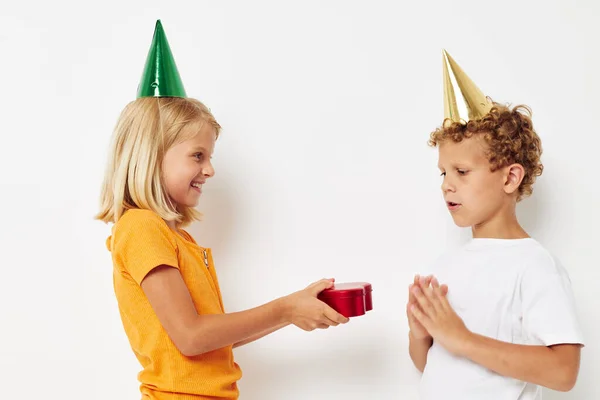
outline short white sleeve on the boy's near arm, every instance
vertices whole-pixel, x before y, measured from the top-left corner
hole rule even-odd
[[[522,317],[528,342],[584,344],[567,271],[550,255],[536,257],[521,282]]]

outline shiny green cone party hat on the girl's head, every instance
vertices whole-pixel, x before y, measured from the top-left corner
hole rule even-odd
[[[160,20],[156,21],[144,74],[138,86],[137,98],[140,97],[187,97]]]

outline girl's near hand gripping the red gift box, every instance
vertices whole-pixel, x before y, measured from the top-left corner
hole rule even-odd
[[[285,321],[305,331],[327,329],[348,322],[348,318],[317,299],[319,293],[331,286],[333,279],[321,279],[306,289],[284,297],[282,300]]]

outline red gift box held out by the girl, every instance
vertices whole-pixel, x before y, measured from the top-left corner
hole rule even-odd
[[[335,283],[317,297],[344,317],[350,318],[373,309],[372,291],[371,284],[367,282]]]

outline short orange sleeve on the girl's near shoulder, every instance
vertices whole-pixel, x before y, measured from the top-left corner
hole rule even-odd
[[[127,211],[115,225],[113,237],[113,257],[138,285],[160,265],[179,268],[174,233],[152,211]]]

